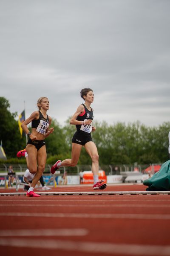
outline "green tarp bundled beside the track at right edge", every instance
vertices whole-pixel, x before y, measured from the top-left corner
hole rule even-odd
[[[144,180],[143,184],[148,186],[147,191],[170,190],[170,160],[163,163],[159,172]]]

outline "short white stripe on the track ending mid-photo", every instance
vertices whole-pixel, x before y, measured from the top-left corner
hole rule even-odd
[[[87,229],[21,229],[0,230],[0,236],[86,236]]]

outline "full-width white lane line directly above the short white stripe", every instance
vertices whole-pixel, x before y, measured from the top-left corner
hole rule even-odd
[[[122,213],[47,213],[47,212],[0,212],[0,216],[43,217],[43,218],[110,218],[170,220],[170,214],[122,214]]]

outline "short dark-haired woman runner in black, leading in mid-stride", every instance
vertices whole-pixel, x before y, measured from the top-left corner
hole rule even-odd
[[[84,88],[81,90],[80,95],[85,100],[85,104],[79,105],[77,111],[74,113],[70,120],[71,125],[76,125],[77,131],[72,139],[72,152],[71,159],[65,159],[62,162],[58,160],[52,167],[51,173],[61,166],[76,166],[79,160],[79,155],[82,146],[92,159],[92,172],[94,177],[93,189],[105,189],[106,184],[103,181],[99,181],[99,155],[96,145],[91,138],[91,131],[95,131],[96,128],[92,125],[93,121],[93,109],[91,103],[94,101],[94,93],[90,88]]]

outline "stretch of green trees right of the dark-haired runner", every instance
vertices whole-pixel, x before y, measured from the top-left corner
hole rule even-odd
[[[96,122],[92,134],[101,164],[163,163],[168,158],[170,122],[147,127],[139,121],[108,125]]]

